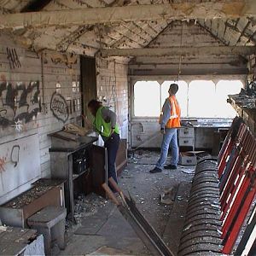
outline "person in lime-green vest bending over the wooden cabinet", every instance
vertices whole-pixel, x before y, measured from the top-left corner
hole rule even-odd
[[[103,107],[102,102],[92,100],[88,103],[90,113],[94,116],[93,126],[104,141],[104,147],[108,150],[108,177],[113,177],[116,183],[117,174],[115,160],[119,149],[119,127],[116,123],[116,114],[109,108]]]

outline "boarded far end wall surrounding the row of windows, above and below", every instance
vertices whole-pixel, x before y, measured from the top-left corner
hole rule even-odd
[[[224,44],[195,22],[181,23],[180,21],[173,21],[157,38],[148,44],[148,47],[211,47],[218,45]],[[130,147],[137,147],[143,143],[143,147],[146,148],[159,148],[162,139],[160,135],[157,135],[160,129],[158,119],[134,116],[132,111],[133,84],[139,80],[157,80],[161,84],[164,81],[177,80],[178,73],[180,73],[179,79],[186,82],[195,79],[206,79],[214,82],[218,82],[219,79],[244,80],[247,75],[247,64],[245,59],[238,55],[190,55],[182,58],[180,56],[141,56],[133,58],[128,65],[129,80],[131,81],[129,83],[131,91]],[[146,92],[145,100],[147,100]],[[202,131],[198,129],[196,131],[195,147],[211,147],[213,130],[206,128],[205,131]]]

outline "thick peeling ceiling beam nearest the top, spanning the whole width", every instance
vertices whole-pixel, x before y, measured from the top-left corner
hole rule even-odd
[[[134,20],[236,19],[256,17],[256,1],[140,4],[0,15],[0,28],[73,26]]]

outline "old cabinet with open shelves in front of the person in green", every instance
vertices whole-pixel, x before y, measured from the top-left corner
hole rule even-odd
[[[95,192],[105,196],[102,183],[108,180],[107,149],[96,145],[97,137],[73,148],[49,148],[52,178],[65,179],[65,203],[70,217],[74,217],[76,192]]]

